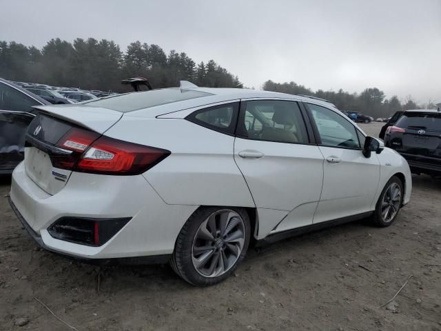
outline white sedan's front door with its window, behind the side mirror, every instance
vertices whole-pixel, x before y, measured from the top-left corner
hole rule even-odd
[[[369,212],[380,180],[377,155],[366,158],[362,154],[364,141],[360,140],[365,136],[345,116],[323,106],[306,105],[325,158],[314,223]]]

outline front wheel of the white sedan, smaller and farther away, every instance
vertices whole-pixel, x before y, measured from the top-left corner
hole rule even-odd
[[[402,181],[393,176],[384,186],[378,198],[373,221],[380,227],[386,227],[393,223],[400,212],[404,196]]]

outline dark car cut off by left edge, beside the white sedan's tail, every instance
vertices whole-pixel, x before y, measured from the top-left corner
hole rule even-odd
[[[35,116],[32,106],[37,105],[37,99],[0,81],[0,174],[23,160],[25,133]]]

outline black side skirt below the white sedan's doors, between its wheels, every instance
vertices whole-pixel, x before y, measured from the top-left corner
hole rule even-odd
[[[365,219],[367,217],[370,217],[372,214],[373,214],[373,211],[372,212],[363,212],[362,214],[356,214],[356,215],[352,215],[352,216],[348,216],[348,217],[342,217],[340,219],[333,219],[331,221],[320,222],[320,223],[316,223],[316,224],[301,226],[300,228],[294,228],[294,229],[290,229],[290,230],[276,232],[273,234],[269,234],[264,239],[260,239],[259,241],[257,241],[255,247],[262,247],[262,246],[268,245],[270,243],[275,243],[276,241],[280,241],[280,240],[287,239],[290,237],[300,236],[301,234],[314,232],[314,231],[322,230],[325,228],[330,228],[331,226],[349,223],[352,221],[358,221],[360,219]]]

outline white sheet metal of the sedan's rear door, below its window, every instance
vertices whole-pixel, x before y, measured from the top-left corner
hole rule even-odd
[[[244,151],[258,151],[263,157],[240,157],[239,153]],[[281,228],[312,224],[323,180],[323,157],[318,146],[236,138],[234,160],[257,208],[289,212]],[[311,173],[314,176],[307,175]],[[302,188],[302,194],[296,194],[298,188]],[[265,227],[266,232],[259,228],[259,237],[265,237],[282,219],[275,221]]]

